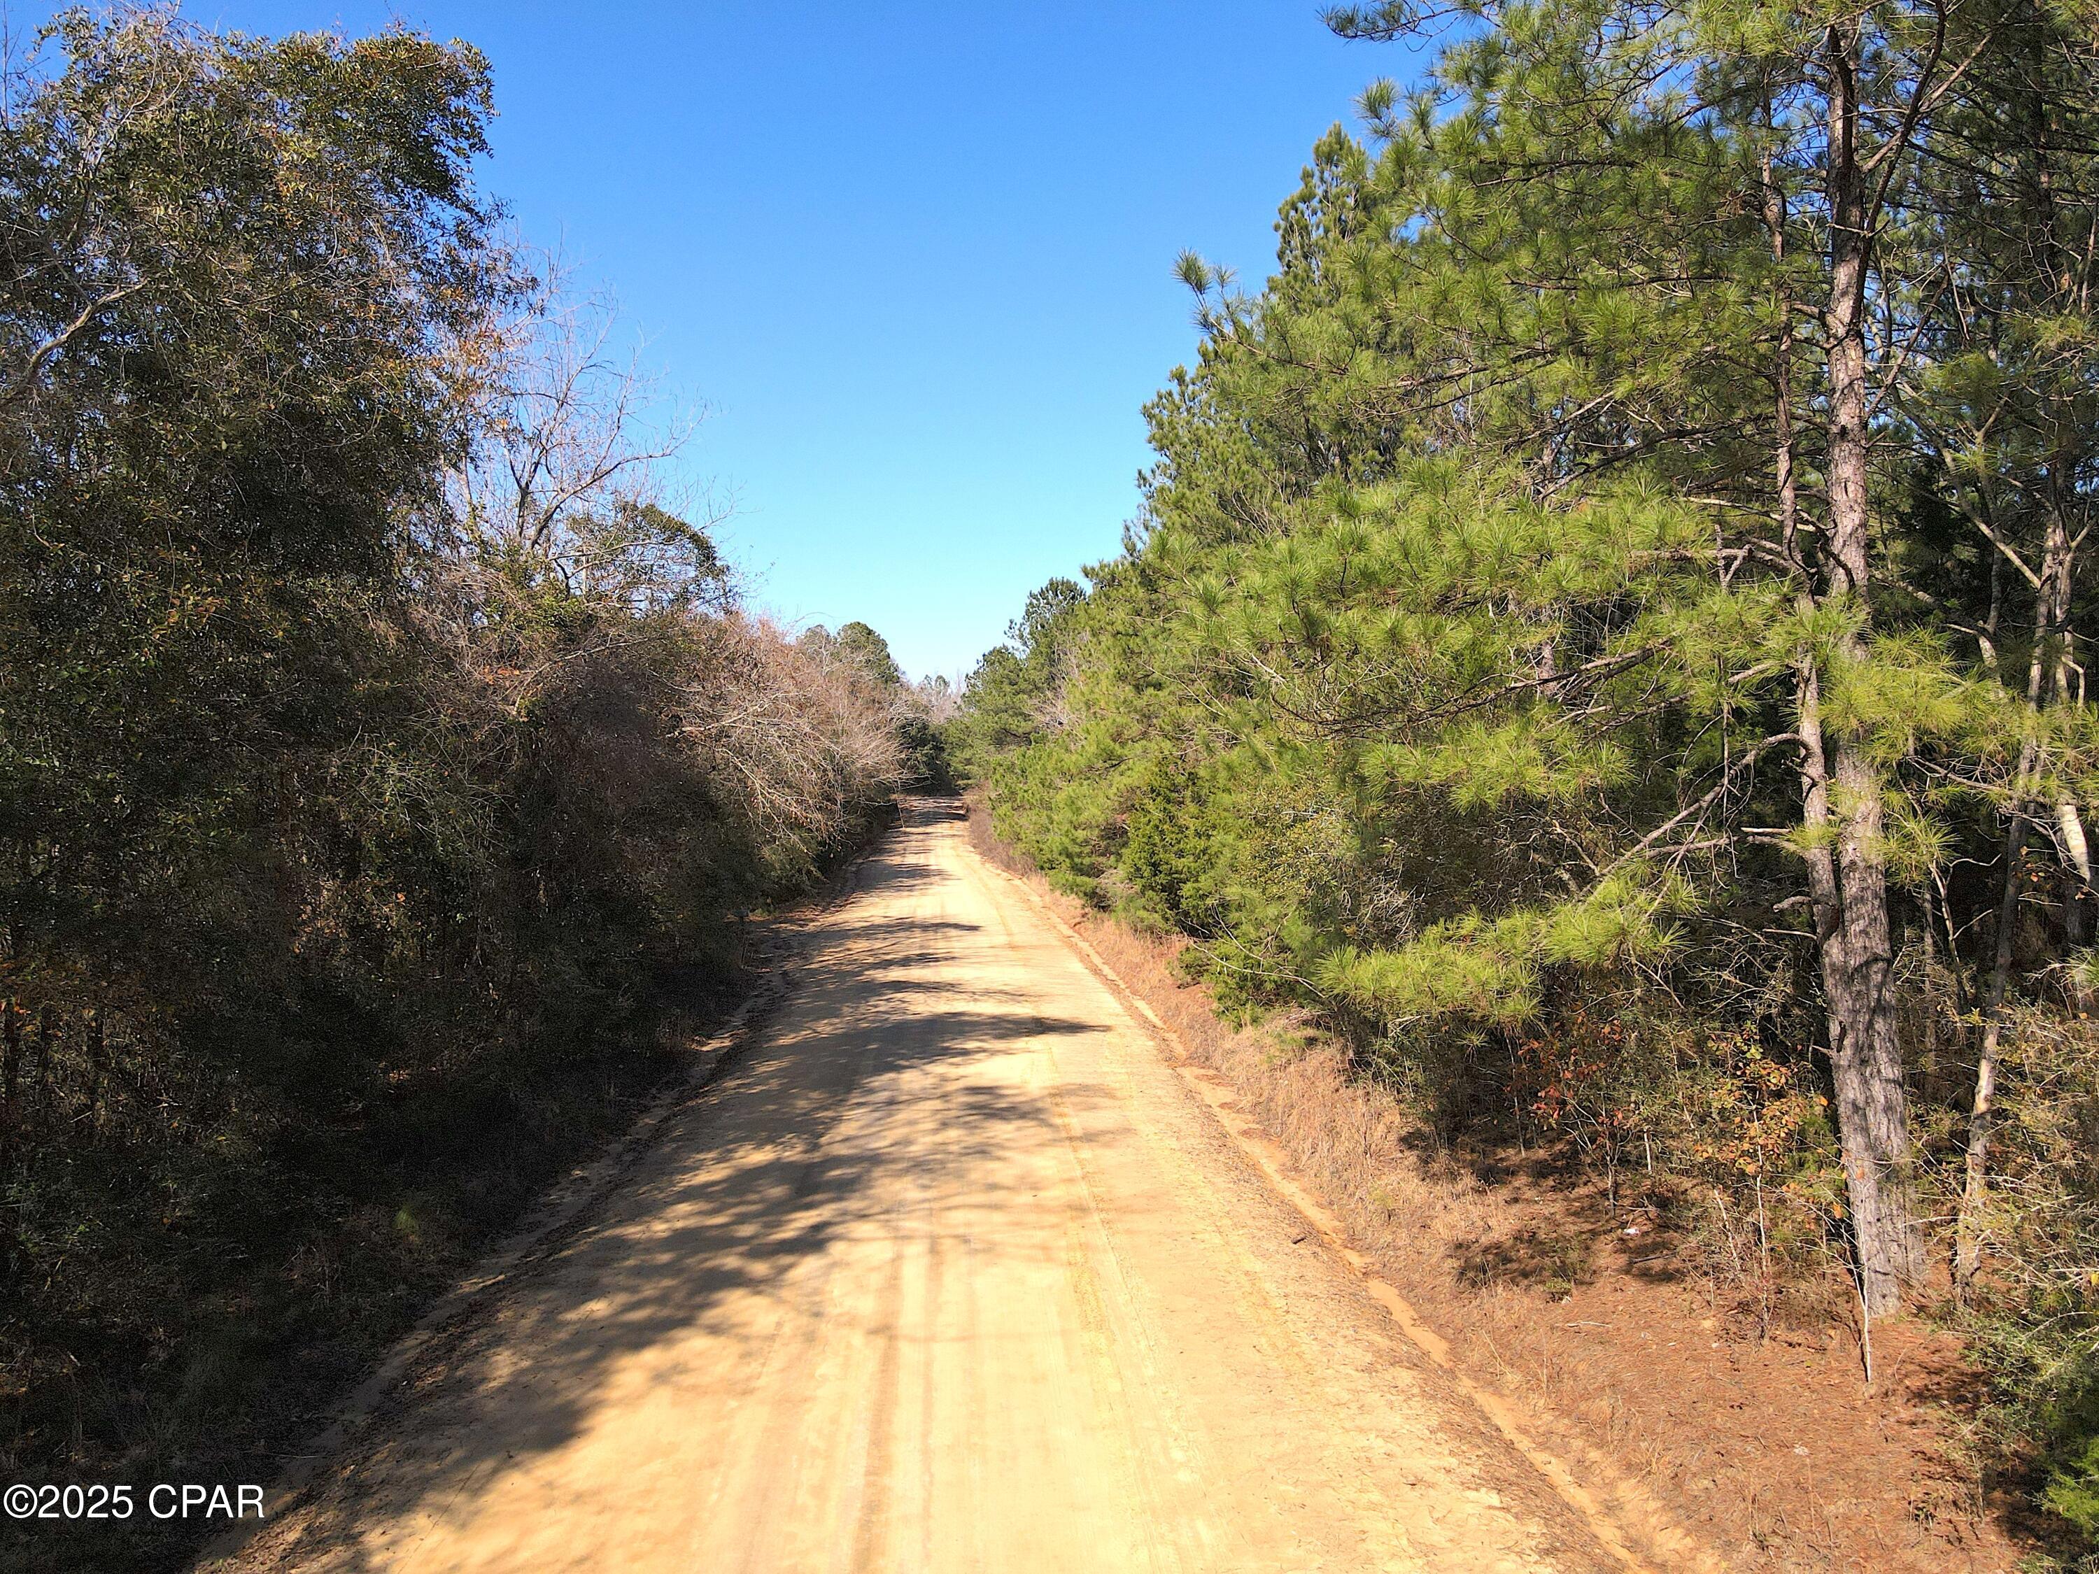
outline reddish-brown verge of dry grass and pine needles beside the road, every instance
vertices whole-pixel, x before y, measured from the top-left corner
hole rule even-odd
[[[1461,1368],[1574,1471],[1633,1477],[1740,1570],[2009,1572],[2021,1549],[1960,1467],[1975,1377],[1956,1339],[1874,1324],[1874,1385],[1835,1286],[1757,1316],[1692,1242],[1614,1217],[1551,1154],[1432,1154],[1383,1091],[1306,1033],[1232,1028],[1175,944],[1050,892],[978,808],[972,842],[1073,923],[1234,1089],[1293,1179],[1413,1301]],[[1639,1234],[1627,1236],[1627,1228]]]

